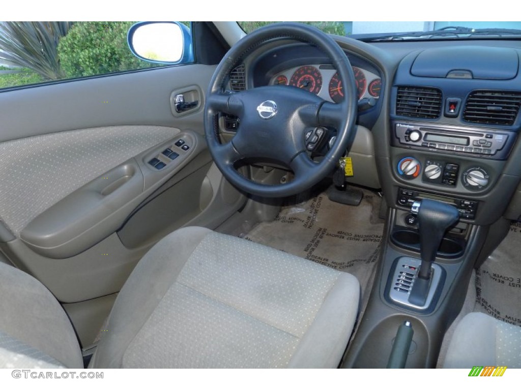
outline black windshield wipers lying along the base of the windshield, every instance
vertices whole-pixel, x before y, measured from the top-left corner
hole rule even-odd
[[[517,29],[471,29],[468,27],[449,26],[432,31],[413,31],[392,34],[357,34],[352,37],[364,42],[402,41],[414,39],[463,38],[463,37],[491,37],[491,36],[521,36]]]

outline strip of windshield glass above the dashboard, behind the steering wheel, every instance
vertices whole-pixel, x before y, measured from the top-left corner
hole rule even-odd
[[[250,33],[266,24],[277,22],[238,22]],[[472,22],[472,21],[389,21],[389,22],[301,22],[314,25],[320,30],[361,40],[405,40],[405,39],[453,39],[453,38],[497,38],[521,37],[521,22]]]

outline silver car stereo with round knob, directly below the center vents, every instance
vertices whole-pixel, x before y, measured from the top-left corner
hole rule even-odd
[[[472,154],[504,160],[515,139],[515,133],[498,129],[440,126],[393,122],[394,146]]]

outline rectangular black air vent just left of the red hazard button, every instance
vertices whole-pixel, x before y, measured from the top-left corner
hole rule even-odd
[[[441,91],[437,88],[398,87],[396,115],[436,119],[441,112]]]

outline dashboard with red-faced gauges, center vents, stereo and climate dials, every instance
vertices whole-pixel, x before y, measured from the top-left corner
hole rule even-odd
[[[337,42],[353,68],[359,99],[361,140],[351,152],[364,175],[352,182],[367,185],[364,178],[374,177],[397,209],[410,208],[409,194],[420,193],[470,202],[460,208],[470,224],[501,216],[521,177],[521,42]],[[239,85],[292,86],[338,102],[342,82],[330,63],[311,45],[270,47],[242,64]],[[367,100],[373,104],[364,107]],[[517,218],[521,199],[513,202],[510,216]]]

